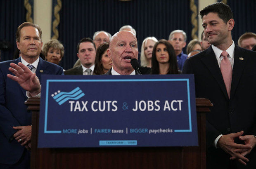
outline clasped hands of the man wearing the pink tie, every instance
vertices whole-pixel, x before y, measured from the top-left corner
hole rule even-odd
[[[226,153],[230,154],[230,160],[237,160],[241,164],[246,165],[249,160],[244,157],[249,154],[256,145],[256,137],[253,135],[242,136],[244,131],[237,133],[231,133],[220,137],[217,143],[217,147],[222,148]],[[239,138],[244,141],[244,144],[234,143],[235,138]]]

